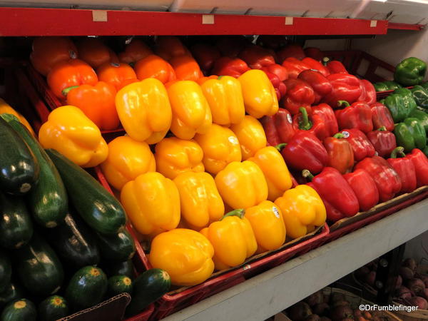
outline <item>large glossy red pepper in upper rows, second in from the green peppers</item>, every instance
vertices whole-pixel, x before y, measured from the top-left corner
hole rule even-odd
[[[337,108],[337,101],[354,103],[361,95],[360,81],[348,73],[332,73],[327,76],[332,84],[332,91],[322,100],[332,108]]]

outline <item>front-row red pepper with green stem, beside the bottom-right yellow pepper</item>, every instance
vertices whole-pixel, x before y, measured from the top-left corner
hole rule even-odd
[[[315,176],[309,170],[303,170],[302,175],[311,180],[322,200],[326,200],[337,210],[329,213],[329,209],[326,208],[327,220],[335,222],[337,213],[342,213],[341,218],[350,218],[358,213],[360,204],[357,195],[337,169],[326,167]]]

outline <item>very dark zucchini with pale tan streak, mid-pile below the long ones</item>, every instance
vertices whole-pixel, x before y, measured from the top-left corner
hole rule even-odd
[[[97,265],[100,261],[100,250],[93,232],[74,215],[67,214],[63,224],[50,229],[48,240],[61,261],[76,270],[86,265]]]

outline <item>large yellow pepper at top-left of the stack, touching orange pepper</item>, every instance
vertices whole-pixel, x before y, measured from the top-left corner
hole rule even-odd
[[[116,110],[126,133],[136,141],[158,143],[171,126],[168,93],[156,78],[121,88],[116,94]]]

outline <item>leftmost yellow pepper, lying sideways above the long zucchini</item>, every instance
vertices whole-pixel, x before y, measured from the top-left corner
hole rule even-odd
[[[75,106],[54,109],[39,130],[39,141],[82,167],[99,165],[108,155],[101,131]]]

